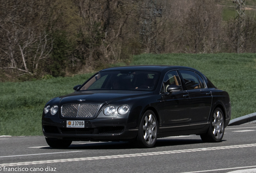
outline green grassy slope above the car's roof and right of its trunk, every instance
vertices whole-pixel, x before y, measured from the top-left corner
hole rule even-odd
[[[256,112],[256,54],[142,54],[133,64],[190,66],[229,93],[232,116]]]

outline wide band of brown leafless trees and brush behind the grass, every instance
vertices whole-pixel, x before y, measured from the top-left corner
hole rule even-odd
[[[211,0],[0,0],[0,16],[0,68],[8,76],[85,72],[142,52],[237,49],[236,21],[224,22]],[[254,16],[244,33],[243,51],[256,52]]]

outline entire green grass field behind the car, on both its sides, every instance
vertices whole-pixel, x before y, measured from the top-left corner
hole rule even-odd
[[[190,66],[229,93],[232,119],[256,112],[256,54],[141,54],[131,64]],[[124,64],[120,64],[124,65]],[[42,135],[41,115],[47,101],[73,92],[92,75],[27,82],[0,82],[0,135]]]

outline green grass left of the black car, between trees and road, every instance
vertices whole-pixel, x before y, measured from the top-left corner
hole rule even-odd
[[[42,135],[41,115],[47,101],[72,93],[91,75],[0,83],[0,135]]]

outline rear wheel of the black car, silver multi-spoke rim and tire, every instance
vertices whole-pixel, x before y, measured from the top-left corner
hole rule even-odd
[[[211,122],[208,131],[200,135],[204,142],[220,142],[225,131],[225,119],[220,108],[216,108],[211,115]]]

